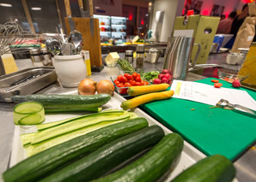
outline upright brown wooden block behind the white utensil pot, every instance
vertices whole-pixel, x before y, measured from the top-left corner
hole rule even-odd
[[[76,30],[82,33],[82,50],[88,50],[90,55],[91,67],[101,67],[101,36],[99,19],[94,18],[94,36],[90,31],[90,18],[72,18],[75,22]],[[70,24],[68,18],[65,18],[67,32],[70,33]]]

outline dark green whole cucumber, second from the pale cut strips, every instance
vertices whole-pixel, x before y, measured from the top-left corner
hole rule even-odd
[[[157,144],[164,137],[160,126],[149,126],[104,145],[99,150],[75,161],[41,181],[90,181],[101,177],[113,167],[143,150]]]

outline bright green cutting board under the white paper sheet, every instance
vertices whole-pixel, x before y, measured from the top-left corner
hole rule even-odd
[[[213,85],[211,78],[198,80]],[[233,88],[220,79],[222,87]],[[253,99],[256,92],[244,88]],[[142,108],[206,156],[220,154],[235,160],[256,140],[256,118],[204,103],[171,98],[147,103]]]

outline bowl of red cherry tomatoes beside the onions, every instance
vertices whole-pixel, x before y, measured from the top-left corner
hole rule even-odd
[[[130,86],[149,85],[147,80],[141,78],[140,73],[119,74],[118,77],[111,77],[115,90],[122,96],[128,96],[127,89]]]

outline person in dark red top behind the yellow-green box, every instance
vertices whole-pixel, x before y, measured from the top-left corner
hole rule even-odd
[[[236,11],[232,11],[229,17],[223,21],[220,21],[217,27],[216,33],[229,34],[231,31],[231,26],[236,16]]]

